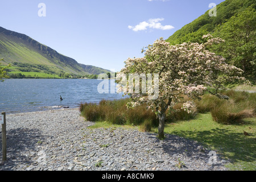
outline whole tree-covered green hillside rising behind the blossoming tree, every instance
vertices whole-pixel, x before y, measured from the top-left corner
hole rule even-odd
[[[225,40],[209,50],[225,58],[226,63],[241,68],[243,76],[256,84],[256,1],[226,0],[217,5],[217,16],[209,10],[176,31],[166,41],[204,43],[203,35]]]

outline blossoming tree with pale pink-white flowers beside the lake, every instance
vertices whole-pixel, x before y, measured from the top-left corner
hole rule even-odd
[[[130,73],[151,74],[154,78],[157,74],[158,85],[151,86],[153,89],[158,88],[158,98],[150,99],[152,88],[142,92],[145,90],[143,84],[140,84],[140,92],[124,93],[131,96],[131,102],[127,106],[135,107],[146,103],[148,108],[155,111],[159,118],[159,139],[164,138],[167,109],[172,109],[180,102],[182,95],[198,97],[207,90],[207,87],[214,88],[214,94],[217,94],[217,91],[224,89],[227,83],[245,81],[245,78],[241,77],[241,69],[226,64],[224,57],[208,51],[208,46],[224,40],[212,38],[211,35],[205,35],[203,38],[208,39],[206,43],[183,43],[176,46],[170,46],[160,38],[149,45],[146,51],[142,50],[144,57],[127,59],[125,67],[117,74],[117,77],[128,76]],[[121,90],[127,91],[126,86],[127,84],[122,82]],[[184,107],[189,107],[189,104],[185,103]]]

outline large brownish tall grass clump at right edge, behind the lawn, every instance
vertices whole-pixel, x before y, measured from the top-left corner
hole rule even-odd
[[[210,94],[205,94],[201,100],[196,100],[197,111],[199,113],[210,111],[213,121],[226,125],[242,123],[244,118],[255,117],[255,93],[225,90],[222,94],[228,96],[229,100]]]

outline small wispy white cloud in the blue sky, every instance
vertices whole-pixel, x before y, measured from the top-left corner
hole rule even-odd
[[[148,0],[148,1],[150,1],[150,0]],[[135,32],[141,31],[141,30],[147,30],[147,28],[155,28],[155,29],[159,29],[159,30],[171,30],[172,28],[174,28],[171,25],[163,26],[161,23],[159,23],[163,20],[164,20],[164,18],[149,19],[147,22],[145,22],[145,21],[141,22],[141,23],[137,24],[136,26],[129,25],[128,28]]]

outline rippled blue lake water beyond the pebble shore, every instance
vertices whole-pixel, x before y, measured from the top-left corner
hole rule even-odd
[[[0,82],[0,113],[27,113],[79,107],[81,103],[123,98],[121,93],[98,93],[100,80],[10,79]],[[111,82],[111,83],[110,83]],[[114,80],[109,80],[115,84]],[[110,90],[110,88],[109,88]],[[60,96],[63,101],[60,101]]]

